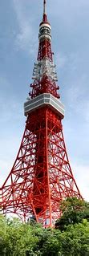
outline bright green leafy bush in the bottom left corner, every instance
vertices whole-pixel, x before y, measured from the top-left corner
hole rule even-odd
[[[0,222],[0,256],[30,256],[34,255],[34,248],[38,242],[38,237],[34,234],[34,228],[27,223],[22,223],[16,218],[6,220],[1,217]]]

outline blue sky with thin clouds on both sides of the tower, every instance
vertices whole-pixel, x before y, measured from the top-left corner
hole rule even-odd
[[[63,133],[71,168],[89,201],[89,0],[47,0],[52,50],[65,105]],[[0,7],[0,184],[18,153],[38,52],[42,0],[2,0]]]

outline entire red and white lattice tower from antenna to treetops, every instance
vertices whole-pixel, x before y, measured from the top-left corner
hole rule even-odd
[[[24,104],[26,128],[14,166],[0,189],[0,205],[3,213],[34,216],[43,226],[52,226],[64,198],[82,197],[63,137],[64,106],[59,100],[45,0],[38,39],[34,81]]]

